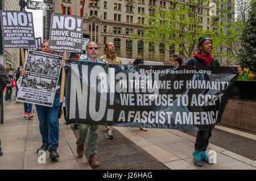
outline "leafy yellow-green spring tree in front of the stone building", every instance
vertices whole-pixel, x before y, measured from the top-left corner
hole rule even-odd
[[[175,47],[185,59],[191,57],[192,50],[197,48],[199,37],[207,36],[213,40],[214,55],[221,54],[222,57],[233,61],[239,49],[239,36],[243,23],[233,18],[227,21],[227,15],[234,12],[234,9],[228,9],[228,0],[214,2],[217,5],[217,12],[222,12],[215,16],[208,15],[205,6],[209,6],[209,1],[203,0],[186,3],[172,1],[168,10],[161,7],[153,8],[154,14],[141,14],[146,19],[146,23],[142,25],[144,36],[137,34],[134,36],[145,43],[152,42],[158,46],[163,43],[165,50],[168,51],[171,51],[171,47]],[[206,28],[203,28],[205,24]],[[220,52],[220,47],[223,49],[229,47],[230,51]]]

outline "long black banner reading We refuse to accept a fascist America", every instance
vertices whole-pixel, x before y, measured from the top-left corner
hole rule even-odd
[[[221,120],[236,67],[68,61],[67,124],[209,130]]]

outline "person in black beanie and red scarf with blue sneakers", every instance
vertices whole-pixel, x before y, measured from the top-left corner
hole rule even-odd
[[[187,65],[194,66],[220,66],[220,63],[213,57],[212,40],[209,37],[200,37],[198,42],[199,51],[195,53],[193,58],[187,61]],[[237,66],[237,73],[241,74],[241,66]],[[209,138],[212,136],[212,130],[198,131],[195,142],[195,150],[193,151],[193,163],[196,166],[202,166],[202,161],[213,164],[212,159],[205,153],[209,144]]]

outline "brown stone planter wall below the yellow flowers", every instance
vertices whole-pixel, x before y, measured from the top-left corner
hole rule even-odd
[[[237,81],[221,124],[256,133],[256,81]]]

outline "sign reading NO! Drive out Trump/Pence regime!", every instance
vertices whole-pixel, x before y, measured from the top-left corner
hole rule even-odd
[[[75,16],[52,15],[49,49],[82,52],[82,19]]]

